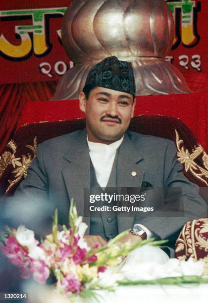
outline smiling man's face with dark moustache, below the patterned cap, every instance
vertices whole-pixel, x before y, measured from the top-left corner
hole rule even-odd
[[[83,92],[79,99],[90,141],[110,144],[123,136],[134,115],[136,101],[132,95],[96,87],[88,100]]]

